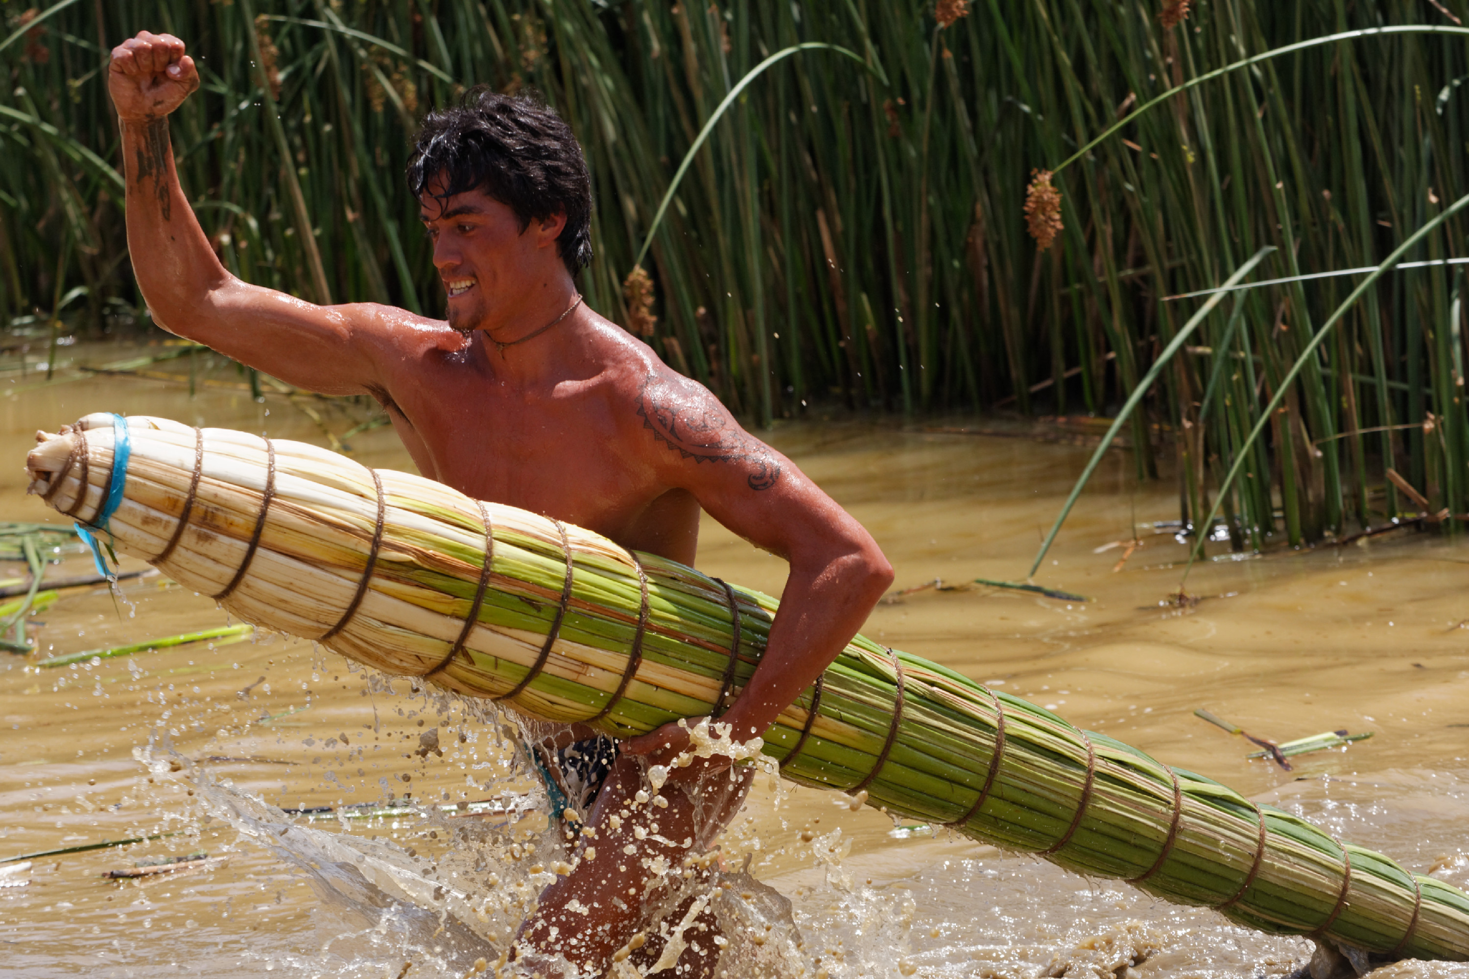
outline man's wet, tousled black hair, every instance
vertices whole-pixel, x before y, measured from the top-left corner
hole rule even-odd
[[[408,161],[408,189],[436,200],[480,189],[510,207],[523,232],[566,211],[557,251],[576,276],[592,261],[592,179],[582,145],[538,92],[501,95],[486,85],[458,106],[430,112]]]

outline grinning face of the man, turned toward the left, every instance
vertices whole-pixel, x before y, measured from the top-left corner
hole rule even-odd
[[[432,182],[419,198],[419,219],[433,241],[450,326],[494,332],[514,319],[517,296],[544,276],[546,255],[510,205],[477,189],[439,198],[439,186]],[[554,247],[551,252],[560,263]]]

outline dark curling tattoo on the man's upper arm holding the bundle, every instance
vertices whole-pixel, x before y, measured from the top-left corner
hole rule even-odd
[[[739,430],[712,395],[687,382],[648,374],[638,393],[638,414],[655,439],[695,462],[746,462],[752,490],[767,490],[780,478],[770,446]]]

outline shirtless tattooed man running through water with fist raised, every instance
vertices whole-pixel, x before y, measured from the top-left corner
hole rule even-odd
[[[685,564],[693,564],[702,508],[790,562],[768,650],[721,718],[736,740],[764,732],[815,681],[892,583],[867,531],[801,470],[580,301],[591,182],[552,110],[476,91],[425,120],[408,182],[448,295],[442,321],[370,302],[320,307],[231,276],[173,166],[167,116],[198,88],[184,43],[147,31],[125,41],[112,53],[109,87],[122,126],[128,247],[159,326],[298,387],[370,393],[419,470],[469,496]],[[598,750],[583,744],[583,754]],[[586,838],[623,853],[633,840],[616,813],[648,765],[668,765],[686,747],[687,732],[667,725],[602,751],[610,771]],[[708,845],[748,785],[729,765],[714,756],[673,768],[657,835]],[[690,791],[699,784],[723,787],[715,812],[701,813]],[[623,900],[645,892],[651,870],[640,857],[661,851],[677,866],[690,853],[652,838],[636,845],[639,859],[580,860],[549,887],[521,928],[519,961],[558,954],[591,975],[605,970],[642,926],[638,898]],[[712,951],[686,951],[683,975],[705,972]]]

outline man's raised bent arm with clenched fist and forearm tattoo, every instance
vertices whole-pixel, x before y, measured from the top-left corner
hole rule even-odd
[[[169,113],[198,88],[184,41],[150,34],[112,51],[107,87],[122,126],[128,250],[153,320],[244,364],[322,393],[360,393],[392,314],[376,305],[319,307],[241,282],[219,263],[179,186]]]

